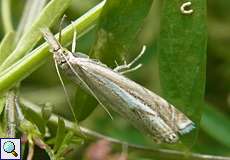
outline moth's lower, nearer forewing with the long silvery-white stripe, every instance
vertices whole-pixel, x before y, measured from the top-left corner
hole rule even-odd
[[[154,140],[167,143],[174,143],[178,140],[176,133],[154,110],[111,80],[85,69],[82,69],[81,77],[97,93],[97,98],[105,106],[109,106],[123,118],[128,119],[135,127],[150,135]]]

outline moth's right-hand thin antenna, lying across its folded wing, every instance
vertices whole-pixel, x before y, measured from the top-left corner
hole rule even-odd
[[[62,53],[63,54],[63,53]],[[75,71],[75,69],[73,68],[73,66],[69,63],[69,61],[66,59],[65,55],[63,54],[63,57],[65,58],[66,62],[68,63],[70,69],[73,71],[73,73],[75,74],[75,76],[77,76],[79,78],[79,80],[85,85],[85,87],[89,90],[89,92],[94,96],[94,98],[96,98],[96,100],[99,102],[99,104],[102,106],[102,108],[105,110],[105,112],[109,115],[109,117],[111,118],[111,120],[113,120],[113,116],[112,114],[109,112],[109,110],[103,105],[103,103],[99,100],[99,98],[97,98],[96,94],[92,91],[92,89],[88,86],[88,84],[86,84],[83,79],[78,75],[78,73]]]

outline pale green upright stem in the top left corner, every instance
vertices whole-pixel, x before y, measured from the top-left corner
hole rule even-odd
[[[10,11],[11,0],[2,0],[2,21],[5,33],[13,31],[13,25],[11,21],[11,11]]]

